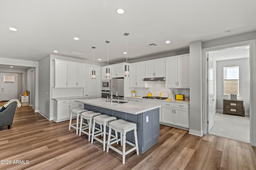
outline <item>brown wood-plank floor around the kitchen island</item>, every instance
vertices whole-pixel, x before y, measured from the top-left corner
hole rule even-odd
[[[0,127],[0,169],[256,168],[256,147],[213,135],[198,137],[164,125],[160,125],[158,143],[143,154],[136,155],[135,151],[127,154],[123,165],[120,154],[111,149],[104,152],[98,141],[91,144],[87,135],[76,135],[75,129],[68,131],[68,124],[68,121],[48,121],[29,106],[17,108],[11,128]]]

